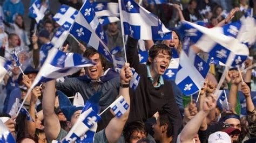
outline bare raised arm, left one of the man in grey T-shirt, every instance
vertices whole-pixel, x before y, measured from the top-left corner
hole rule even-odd
[[[52,80],[46,83],[43,95],[44,132],[49,140],[56,139],[60,132],[59,119],[54,112],[55,82]]]

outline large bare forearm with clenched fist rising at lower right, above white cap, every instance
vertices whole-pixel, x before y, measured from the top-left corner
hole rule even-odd
[[[198,133],[201,123],[204,118],[208,115],[211,110],[216,107],[216,97],[210,94],[205,98],[203,110],[199,111],[196,116],[194,116],[180,133],[180,142],[193,142],[193,138]]]

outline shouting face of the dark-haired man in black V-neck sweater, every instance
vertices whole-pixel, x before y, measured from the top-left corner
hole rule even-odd
[[[163,75],[170,64],[171,56],[167,51],[159,51],[154,59],[149,57],[149,61],[151,62],[150,72],[152,77]]]

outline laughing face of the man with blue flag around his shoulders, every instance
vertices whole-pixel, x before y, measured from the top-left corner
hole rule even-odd
[[[96,53],[90,57],[90,60],[96,63],[95,66],[91,66],[86,69],[86,73],[92,80],[97,80],[100,76],[104,74],[104,68],[102,66],[102,62],[100,61],[99,54]]]

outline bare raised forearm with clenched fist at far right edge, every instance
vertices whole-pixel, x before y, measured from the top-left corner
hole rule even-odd
[[[246,83],[242,83],[241,90],[242,90],[242,93],[245,96],[246,109],[247,109],[247,111],[252,112],[254,110],[254,104],[252,102],[250,88],[248,87],[248,85]]]

